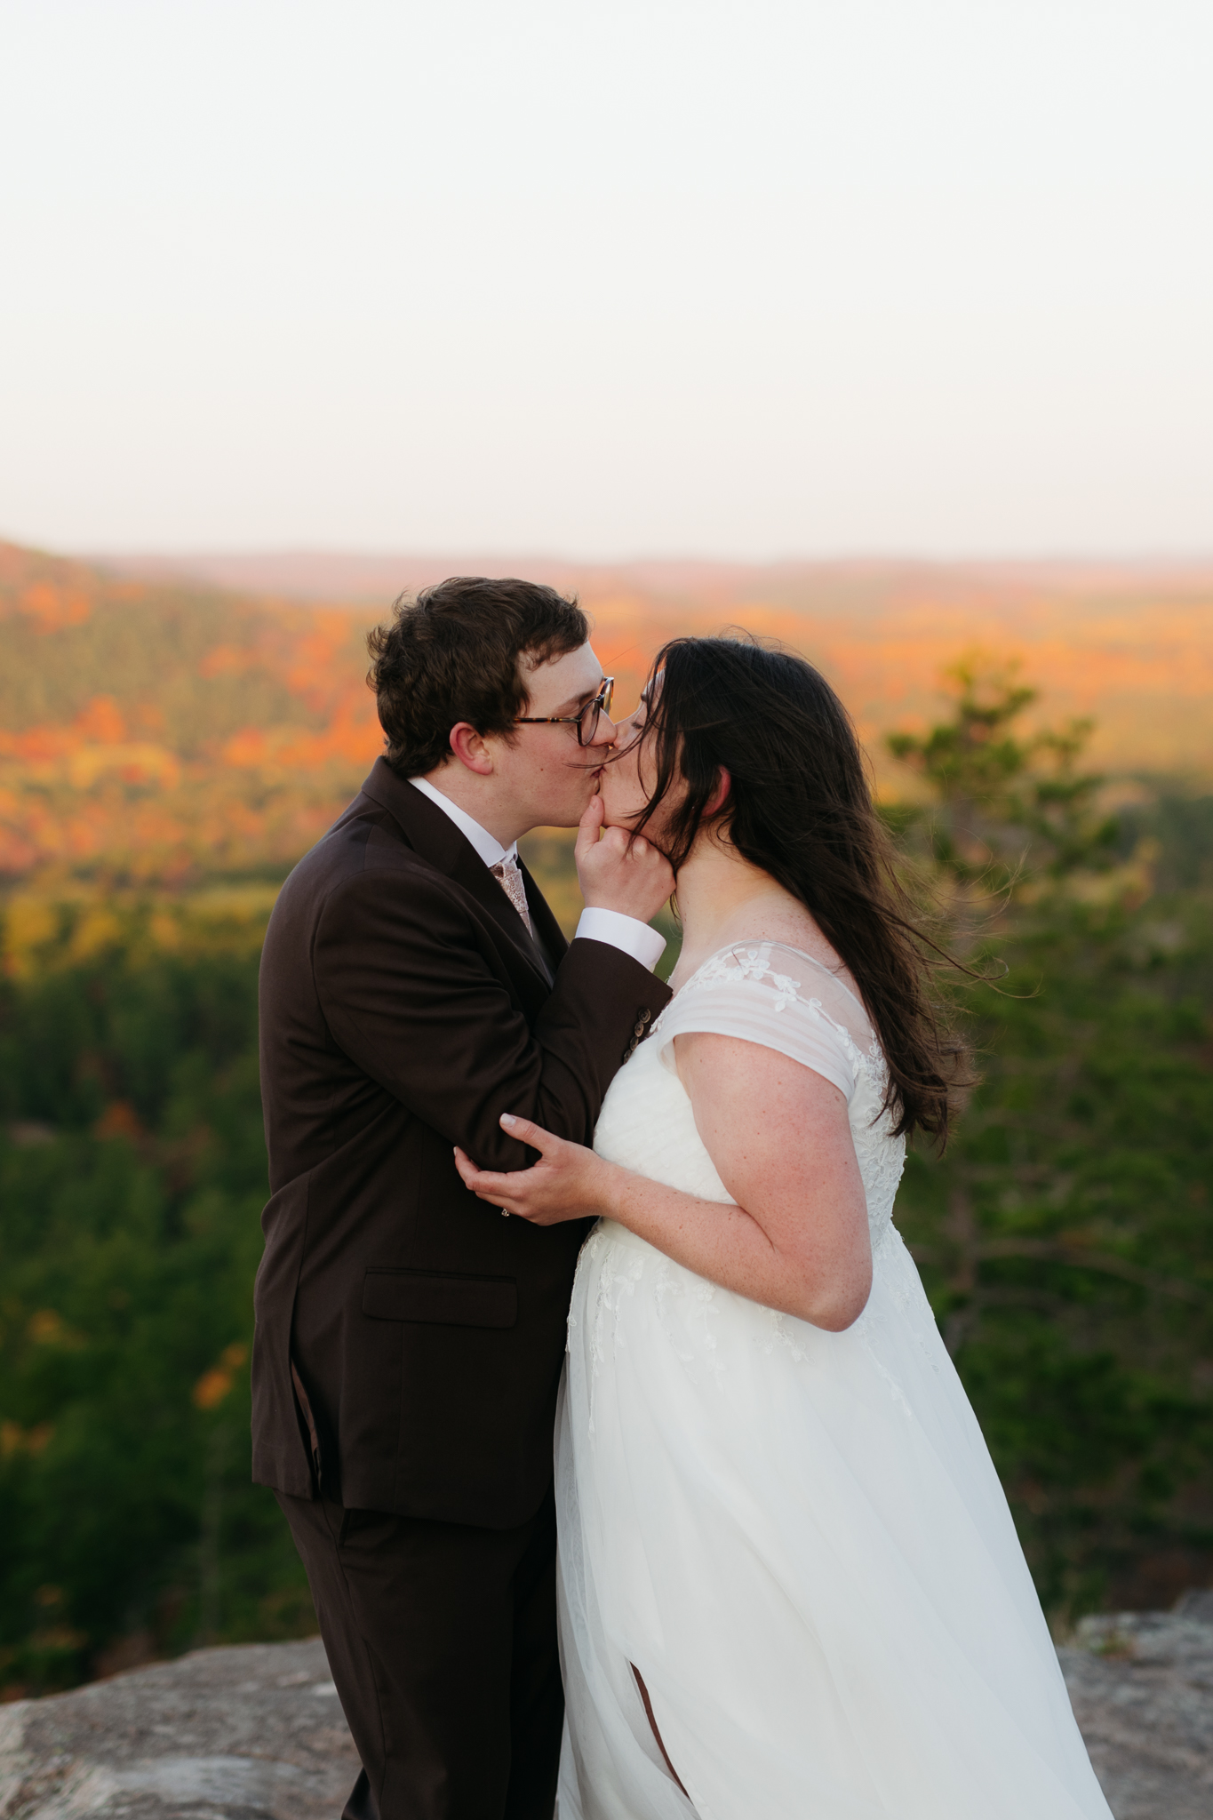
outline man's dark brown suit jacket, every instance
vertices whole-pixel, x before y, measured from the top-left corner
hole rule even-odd
[[[533,1161],[502,1112],[589,1143],[669,990],[567,946],[533,881],[522,919],[458,828],[375,763],[286,881],[260,974],[271,1199],[253,1347],[253,1476],[313,1496],[291,1360],[327,1496],[506,1529],[551,1481],[584,1221],[531,1227],[464,1188]]]

